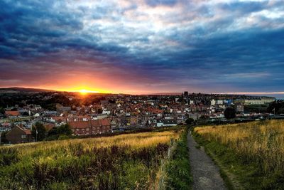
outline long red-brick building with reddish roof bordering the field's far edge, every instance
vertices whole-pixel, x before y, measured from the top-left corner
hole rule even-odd
[[[70,125],[73,134],[78,136],[111,131],[111,124],[108,119],[68,122],[68,125]]]

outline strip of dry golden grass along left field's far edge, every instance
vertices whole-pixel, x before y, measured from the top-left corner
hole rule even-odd
[[[50,152],[67,151],[67,147],[80,144],[82,149],[92,149],[93,147],[109,147],[112,145],[129,146],[131,149],[141,149],[143,147],[152,147],[159,143],[168,143],[170,139],[178,139],[181,134],[174,131],[165,132],[141,132],[136,134],[120,134],[113,137],[98,137],[87,139],[67,139],[53,142],[34,142],[28,144],[17,144],[11,147],[16,147],[19,153],[24,156],[27,154],[36,154],[38,150],[49,154]]]

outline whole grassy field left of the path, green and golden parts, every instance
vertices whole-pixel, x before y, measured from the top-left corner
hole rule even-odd
[[[0,189],[155,189],[182,130],[0,147]]]

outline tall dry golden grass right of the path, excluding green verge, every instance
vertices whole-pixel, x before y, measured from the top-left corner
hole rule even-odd
[[[258,163],[265,174],[284,173],[284,121],[196,127],[204,139],[217,141]]]

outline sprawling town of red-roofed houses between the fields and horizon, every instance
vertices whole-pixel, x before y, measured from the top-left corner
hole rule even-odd
[[[180,95],[124,95],[80,93],[1,93],[0,137],[6,144],[35,142],[32,129],[68,125],[73,136],[92,136],[146,127],[171,127],[189,119],[228,122],[224,111],[234,109],[234,122],[275,115],[268,106],[274,97],[180,93]],[[273,113],[274,111],[274,113]],[[3,135],[4,134],[4,135]]]

